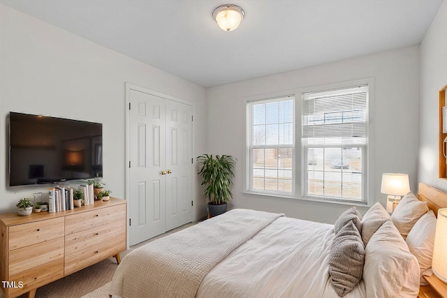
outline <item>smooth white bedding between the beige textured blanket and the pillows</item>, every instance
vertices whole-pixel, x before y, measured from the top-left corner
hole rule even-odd
[[[203,279],[196,297],[339,297],[328,274],[333,225],[277,218]],[[346,298],[366,297],[363,280]]]

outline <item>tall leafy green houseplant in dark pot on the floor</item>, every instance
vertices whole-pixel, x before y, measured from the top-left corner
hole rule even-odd
[[[227,202],[233,198],[230,186],[235,176],[233,169],[236,159],[229,155],[203,154],[198,156],[200,166],[198,174],[202,177],[205,186],[203,194],[208,198],[208,217],[223,214],[227,209]]]

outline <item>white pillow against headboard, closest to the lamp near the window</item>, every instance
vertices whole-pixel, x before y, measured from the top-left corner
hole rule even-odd
[[[399,204],[393,214],[391,221],[393,221],[397,230],[404,239],[410,232],[413,225],[418,221],[420,216],[423,216],[428,211],[427,202],[422,202],[416,198],[413,193],[407,193]]]

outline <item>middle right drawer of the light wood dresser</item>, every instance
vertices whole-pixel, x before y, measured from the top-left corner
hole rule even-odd
[[[65,254],[71,255],[110,239],[122,237],[123,233],[126,233],[126,218],[101,227],[68,234],[65,237]]]

